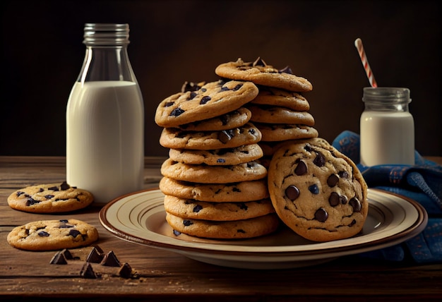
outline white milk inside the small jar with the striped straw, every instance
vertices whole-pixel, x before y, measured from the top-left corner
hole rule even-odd
[[[364,111],[361,163],[414,164],[414,121],[409,111]]]

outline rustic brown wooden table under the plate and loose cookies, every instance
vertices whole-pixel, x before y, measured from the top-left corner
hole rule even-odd
[[[145,159],[145,188],[157,187],[162,160]],[[442,263],[417,265],[351,255],[289,270],[218,267],[113,236],[100,224],[100,207],[68,215],[38,215],[8,207],[6,198],[12,191],[65,178],[64,157],[0,157],[0,301],[429,301],[442,297]],[[104,252],[113,250],[136,275],[124,278],[116,267],[92,264],[100,276],[81,277],[81,259],[90,247],[71,250],[80,260],[51,265],[54,251],[18,250],[6,242],[13,227],[59,217],[95,225],[100,233],[97,245]]]

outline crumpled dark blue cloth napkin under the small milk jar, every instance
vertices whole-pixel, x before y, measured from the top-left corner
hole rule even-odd
[[[420,203],[429,215],[424,231],[404,243],[362,253],[362,257],[402,261],[412,258],[419,263],[442,262],[442,166],[424,159],[415,151],[415,164],[377,165],[359,163],[359,135],[343,131],[333,147],[350,157],[362,172],[369,188],[403,195]]]

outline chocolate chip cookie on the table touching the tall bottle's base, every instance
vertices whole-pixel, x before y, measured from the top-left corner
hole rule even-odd
[[[8,196],[8,205],[24,212],[56,213],[83,209],[93,200],[89,191],[64,182],[21,188]]]

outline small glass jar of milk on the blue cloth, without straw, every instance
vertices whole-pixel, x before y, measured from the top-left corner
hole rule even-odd
[[[414,164],[414,120],[410,90],[364,87],[361,115],[361,164]]]

